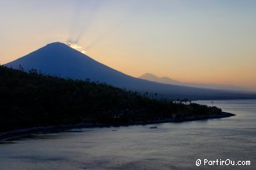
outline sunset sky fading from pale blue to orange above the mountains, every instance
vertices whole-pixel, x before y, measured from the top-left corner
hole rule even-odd
[[[0,63],[54,41],[138,77],[256,90],[254,0],[0,0]]]

